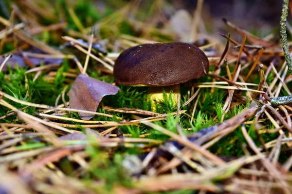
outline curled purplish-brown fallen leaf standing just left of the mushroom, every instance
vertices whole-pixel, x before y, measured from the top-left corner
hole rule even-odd
[[[119,90],[119,87],[110,83],[80,74],[68,92],[69,104],[73,109],[96,112],[98,104],[104,96],[115,95]],[[94,116],[91,113],[78,114],[83,120],[89,120]]]

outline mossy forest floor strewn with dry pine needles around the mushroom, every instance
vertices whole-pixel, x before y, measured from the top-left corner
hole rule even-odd
[[[13,53],[0,66],[1,190],[292,193],[292,108],[270,102],[290,94],[279,43],[230,19],[223,21],[236,32],[219,32],[227,40],[222,42],[202,28],[206,20],[166,16],[171,5],[163,0],[131,1],[100,12],[99,19],[78,15],[94,6],[73,9],[68,3],[25,0],[12,6],[9,20],[0,17],[1,51]],[[201,17],[201,3],[194,16]],[[140,15],[146,5],[159,14]],[[178,29],[180,17],[192,24]],[[236,33],[241,44],[232,38]],[[200,46],[211,65],[207,76],[183,84],[177,105],[164,95],[153,112],[143,88],[113,84],[122,50],[177,37],[205,40]],[[51,45],[63,40],[69,54]],[[18,67],[7,68],[9,63]]]

